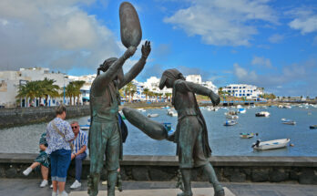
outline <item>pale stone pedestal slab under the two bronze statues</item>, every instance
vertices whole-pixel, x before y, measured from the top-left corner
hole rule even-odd
[[[226,187],[223,188],[226,196],[235,196]],[[212,188],[194,188],[192,189],[194,196],[213,196],[214,192]],[[176,196],[179,189],[159,189],[159,190],[126,190],[116,191],[116,196]],[[107,191],[99,191],[98,196],[106,196]],[[87,191],[71,191],[69,196],[87,196]]]

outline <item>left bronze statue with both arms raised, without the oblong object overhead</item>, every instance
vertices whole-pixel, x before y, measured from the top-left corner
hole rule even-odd
[[[146,64],[150,53],[150,42],[142,46],[142,57],[123,74],[122,66],[128,57],[132,57],[136,46],[129,46],[122,57],[110,57],[97,69],[90,89],[91,125],[89,130],[90,174],[88,176],[88,194],[96,196],[100,172],[106,155],[107,195],[115,195],[118,178],[119,159],[122,158],[122,141],[118,126],[119,89],[138,76]],[[103,73],[100,73],[102,71]]]

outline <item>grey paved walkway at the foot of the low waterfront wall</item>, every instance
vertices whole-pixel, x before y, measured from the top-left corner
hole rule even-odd
[[[52,190],[48,187],[39,188],[40,180],[0,179],[1,196],[50,196]],[[66,182],[66,191],[73,181]],[[237,196],[317,196],[316,185],[285,184],[285,183],[222,183]],[[193,182],[193,188],[209,188],[207,182]],[[158,190],[174,189],[173,181],[124,181],[124,190]],[[106,185],[99,185],[99,190],[105,191]],[[87,181],[75,191],[87,191]],[[168,195],[164,195],[168,196]],[[175,195],[176,196],[176,195]],[[213,196],[213,195],[210,195]]]

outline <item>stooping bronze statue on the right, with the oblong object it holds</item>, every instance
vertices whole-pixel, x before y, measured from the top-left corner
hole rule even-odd
[[[200,167],[213,184],[215,196],[223,196],[224,191],[210,164],[210,145],[205,119],[203,118],[195,94],[210,97],[213,105],[220,103],[220,97],[199,84],[188,82],[177,69],[164,71],[159,88],[172,88],[172,105],[178,112],[178,125],[173,136],[158,122],[147,119],[131,108],[123,108],[128,121],[141,129],[152,139],[169,139],[178,144],[179,169],[184,183],[184,191],[178,196],[192,196],[190,185],[191,168]],[[142,117],[141,117],[142,116]]]

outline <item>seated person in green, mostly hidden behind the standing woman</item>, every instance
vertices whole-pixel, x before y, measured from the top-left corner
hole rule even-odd
[[[46,132],[42,134],[41,139],[39,140],[39,149],[40,154],[36,157],[36,160],[30,167],[28,167],[26,170],[23,171],[24,175],[30,174],[30,172],[36,167],[41,166],[41,173],[43,177],[43,181],[40,184],[40,187],[46,187],[48,184],[48,168],[50,164],[49,157],[46,154],[46,148],[47,148],[47,142],[46,142]]]

